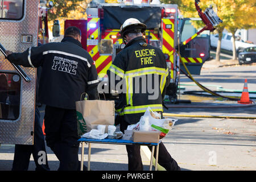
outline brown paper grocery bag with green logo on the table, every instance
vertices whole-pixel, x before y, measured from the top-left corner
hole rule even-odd
[[[83,100],[76,102],[77,129],[79,136],[97,129],[97,125],[114,125],[114,101]]]

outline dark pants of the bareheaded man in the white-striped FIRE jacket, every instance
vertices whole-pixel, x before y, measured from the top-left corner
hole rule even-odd
[[[46,106],[44,132],[47,146],[60,161],[59,171],[77,171],[79,169],[79,139],[75,109],[61,109]]]

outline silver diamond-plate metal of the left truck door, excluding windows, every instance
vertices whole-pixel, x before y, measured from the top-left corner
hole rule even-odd
[[[38,42],[38,0],[26,1],[26,15],[20,22],[0,20],[0,43],[13,52],[23,52]],[[21,43],[21,35],[32,35],[32,44]],[[1,55],[1,53],[0,53]],[[22,109],[17,121],[0,120],[0,143],[33,144],[36,68],[24,68],[31,78],[26,82],[22,78]],[[15,71],[13,66],[0,56],[0,72]]]

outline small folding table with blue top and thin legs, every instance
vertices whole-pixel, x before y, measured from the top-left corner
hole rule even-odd
[[[123,139],[88,139],[88,138],[80,138],[78,140],[82,143],[82,152],[81,152],[81,171],[84,167],[84,144],[88,143],[88,171],[90,170],[90,152],[91,152],[91,143],[105,143],[105,144],[139,144],[139,145],[146,145],[146,146],[152,146],[151,151],[151,159],[150,159],[150,171],[152,170],[153,165],[153,157],[154,157],[154,151],[156,146],[156,157],[155,157],[155,170],[157,169],[158,165],[158,150],[159,150],[159,143],[142,143],[142,142],[133,142],[132,140],[123,140]]]

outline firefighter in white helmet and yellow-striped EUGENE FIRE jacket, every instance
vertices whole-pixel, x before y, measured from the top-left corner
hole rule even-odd
[[[137,123],[148,107],[163,112],[162,103],[170,82],[164,54],[159,48],[146,43],[142,36],[145,30],[146,25],[138,19],[130,18],[122,24],[120,34],[126,46],[107,72],[110,90],[119,92],[115,109],[122,132],[127,126]],[[143,170],[140,146],[127,145],[126,150],[129,171]],[[167,170],[180,170],[162,142],[159,144],[158,162]]]

